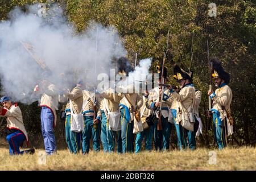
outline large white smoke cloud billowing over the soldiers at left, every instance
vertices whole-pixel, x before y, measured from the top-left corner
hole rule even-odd
[[[42,80],[44,70],[21,42],[33,46],[36,55],[51,71],[49,80],[60,89],[79,80],[97,86],[96,75],[109,73],[113,58],[126,55],[114,27],[91,22],[84,34],[76,35],[72,25],[63,19],[62,11],[53,7],[54,12],[51,7],[47,18],[36,15],[37,5],[29,6],[28,13],[15,9],[9,20],[0,23],[2,95],[7,94],[26,104],[36,100],[33,89]],[[135,72],[137,69],[139,71],[136,68]]]

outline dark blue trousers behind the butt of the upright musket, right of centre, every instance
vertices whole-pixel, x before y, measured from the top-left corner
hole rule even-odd
[[[171,123],[168,122],[168,117],[162,116],[162,128],[163,130],[158,131],[158,120],[154,123],[154,140],[155,150],[168,150],[170,148],[170,135],[171,135]]]

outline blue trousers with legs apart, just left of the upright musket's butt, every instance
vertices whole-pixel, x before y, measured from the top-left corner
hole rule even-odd
[[[135,140],[135,153],[141,151],[142,140],[145,138],[145,148],[147,151],[152,150],[152,137],[154,134],[154,126],[149,126],[146,130],[138,133]]]

